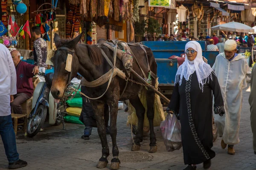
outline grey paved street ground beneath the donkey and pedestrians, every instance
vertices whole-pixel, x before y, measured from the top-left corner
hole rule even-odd
[[[256,155],[252,149],[252,133],[250,128],[250,111],[248,96],[250,88],[244,90],[241,113],[240,143],[235,146],[236,155],[227,155],[222,150],[220,139],[214,142],[216,157],[212,159],[210,170],[256,170]],[[149,137],[145,136],[140,152],[131,152],[131,130],[126,126],[128,113],[119,111],[117,120],[117,140],[119,147],[120,170],[182,170],[183,151],[167,152],[159,127],[155,127],[157,135],[157,153],[148,153]],[[89,141],[80,139],[84,127],[67,123],[67,130],[61,126],[47,127],[46,132],[39,133],[29,139],[20,133],[17,136],[17,148],[20,158],[28,161],[28,166],[21,170],[97,170],[96,164],[101,157],[101,143],[96,128],[93,129]],[[7,169],[7,160],[0,141],[0,170]],[[108,144],[111,137],[108,135]],[[108,159],[111,162],[111,158]],[[108,167],[104,170],[107,170]],[[198,165],[202,169],[202,165]]]

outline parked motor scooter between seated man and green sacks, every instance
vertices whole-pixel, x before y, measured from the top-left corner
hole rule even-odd
[[[64,122],[64,116],[67,114],[65,112],[67,108],[66,99],[57,104],[50,93],[53,73],[44,74],[39,72],[38,75],[44,77],[45,82],[39,82],[33,94],[33,109],[27,121],[27,136],[29,137],[35,136],[41,130],[47,117],[50,125],[60,125],[62,122],[63,129],[66,129]]]

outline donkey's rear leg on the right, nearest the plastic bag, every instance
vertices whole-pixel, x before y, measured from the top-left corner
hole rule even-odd
[[[148,152],[155,153],[157,152],[157,144],[156,144],[157,139],[154,133],[154,124],[153,124],[155,94],[150,89],[148,89],[146,96],[147,96],[147,106],[148,106],[147,117],[148,117],[149,128],[150,128],[150,144],[149,144],[150,150]]]

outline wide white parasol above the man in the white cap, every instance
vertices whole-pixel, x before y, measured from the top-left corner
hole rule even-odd
[[[230,22],[212,27],[212,30],[233,31],[233,32],[254,32],[254,29],[242,23]]]

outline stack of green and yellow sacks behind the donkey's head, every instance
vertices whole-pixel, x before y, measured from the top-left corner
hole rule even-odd
[[[81,89],[79,89],[81,91]],[[75,92],[73,93],[73,95]],[[70,122],[70,123],[77,123],[84,125],[80,120],[80,114],[82,112],[82,105],[83,105],[83,99],[80,96],[80,94],[77,92],[76,96],[74,96],[73,99],[67,100],[67,105],[69,106],[67,108],[67,115],[64,116],[65,122]]]

